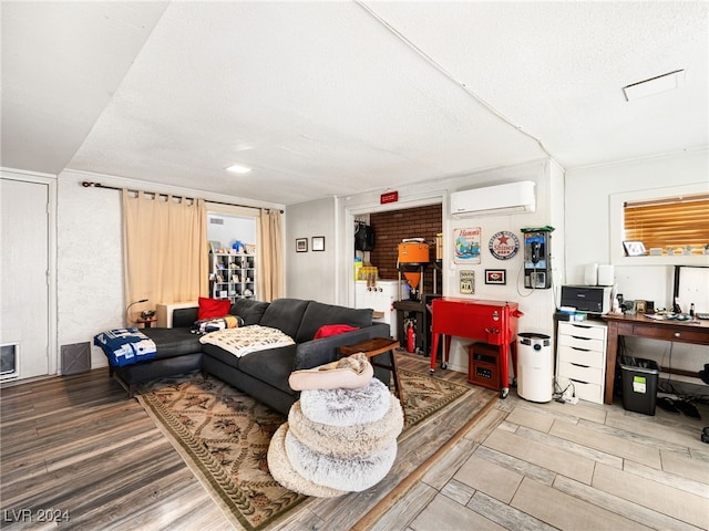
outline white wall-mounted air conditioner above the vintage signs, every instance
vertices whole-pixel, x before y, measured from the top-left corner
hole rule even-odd
[[[451,194],[451,214],[455,218],[500,214],[534,212],[535,183],[523,180],[506,185],[473,188]]]

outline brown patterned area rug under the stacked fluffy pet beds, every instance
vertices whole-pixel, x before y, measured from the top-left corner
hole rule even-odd
[[[404,369],[399,377],[404,431],[471,391]],[[152,382],[137,399],[237,529],[268,529],[307,499],[268,472],[268,445],[286,421],[279,413],[199,373]]]

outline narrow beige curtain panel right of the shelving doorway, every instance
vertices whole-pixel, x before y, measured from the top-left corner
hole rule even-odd
[[[256,266],[256,298],[274,301],[284,296],[284,251],[281,215],[263,209],[258,227],[258,263]]]

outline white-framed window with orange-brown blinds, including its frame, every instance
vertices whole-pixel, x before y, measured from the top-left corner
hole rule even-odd
[[[612,263],[709,264],[709,250],[705,250],[709,243],[706,181],[612,194],[608,207]],[[628,256],[629,247],[638,247],[635,242],[643,243],[645,252]]]

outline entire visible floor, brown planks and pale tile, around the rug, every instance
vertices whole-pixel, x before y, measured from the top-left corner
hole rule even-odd
[[[428,371],[420,356],[399,360]],[[659,408],[649,417],[617,404],[537,405],[513,392],[446,446],[480,413],[472,402],[453,409],[402,437],[381,483],[314,499],[277,529],[709,529],[706,406],[703,420]],[[3,387],[0,451],[3,529],[230,529],[105,369]]]

